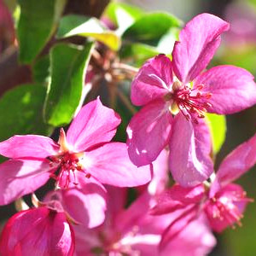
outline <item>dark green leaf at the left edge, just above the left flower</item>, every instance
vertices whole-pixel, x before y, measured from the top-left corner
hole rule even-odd
[[[49,135],[52,128],[43,121],[45,96],[46,88],[39,84],[7,91],[0,99],[0,140],[15,134]]]

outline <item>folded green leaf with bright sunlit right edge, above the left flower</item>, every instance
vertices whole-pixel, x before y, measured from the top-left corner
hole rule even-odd
[[[51,81],[44,106],[44,118],[54,126],[67,125],[79,107],[92,43],[83,49],[56,44],[50,50]]]

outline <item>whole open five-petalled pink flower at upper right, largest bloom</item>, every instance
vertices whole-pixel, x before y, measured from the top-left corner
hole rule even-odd
[[[235,113],[256,102],[253,75],[246,70],[218,66],[203,72],[228,28],[214,15],[198,15],[180,32],[172,61],[157,55],[139,70],[131,84],[131,102],[143,108],[127,128],[134,164],[148,165],[169,145],[177,183],[193,186],[211,175],[205,113]]]

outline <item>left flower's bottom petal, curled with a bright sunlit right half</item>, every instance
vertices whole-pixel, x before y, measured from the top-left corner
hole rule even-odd
[[[61,189],[62,205],[68,214],[87,228],[94,228],[104,221],[106,211],[106,189],[93,177],[76,174],[78,185]]]

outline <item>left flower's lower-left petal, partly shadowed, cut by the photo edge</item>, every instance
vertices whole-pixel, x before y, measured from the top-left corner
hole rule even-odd
[[[7,160],[0,165],[0,205],[33,193],[49,179],[55,167],[42,160]]]

